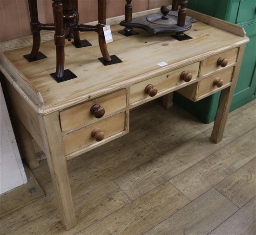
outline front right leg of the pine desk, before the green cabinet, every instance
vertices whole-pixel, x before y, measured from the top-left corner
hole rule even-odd
[[[216,144],[222,141],[224,128],[228,119],[230,105],[232,102],[240,67],[243,60],[244,50],[245,50],[245,44],[240,46],[239,48],[239,52],[236,60],[236,67],[233,72],[232,84],[230,87],[223,89],[221,93],[217,115],[214,122],[213,131],[211,134],[211,140],[214,141]]]

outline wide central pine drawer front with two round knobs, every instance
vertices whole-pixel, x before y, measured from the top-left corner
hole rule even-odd
[[[192,79],[193,79],[198,76],[198,70],[199,70],[199,62],[195,64],[189,64],[180,69],[173,70],[159,76],[155,76],[141,83],[136,83],[130,87],[129,103],[131,104],[149,97],[149,95],[145,92],[145,87],[148,84],[152,84],[157,89],[157,92],[159,93],[166,89],[170,89],[177,85],[186,83],[180,77],[183,71],[188,71],[189,73],[191,73]]]

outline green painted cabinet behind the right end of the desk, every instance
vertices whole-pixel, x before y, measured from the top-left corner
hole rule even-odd
[[[256,98],[256,0],[189,0],[188,8],[243,26],[250,42],[246,45],[243,64],[230,111]],[[199,102],[175,93],[174,102],[205,123],[215,120],[220,92]]]

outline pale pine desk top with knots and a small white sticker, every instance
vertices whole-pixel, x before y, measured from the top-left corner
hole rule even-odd
[[[214,22],[213,25],[227,24],[222,25],[222,28],[229,26],[227,22],[200,13],[188,13],[194,14],[196,19]],[[136,31],[140,31],[140,34],[124,37],[117,32],[123,27],[113,25],[114,42],[108,44],[108,51],[111,55],[117,55],[123,63],[110,66],[103,66],[98,60],[101,52],[97,33],[81,33],[81,39],[88,39],[93,46],[76,49],[66,41],[65,69],[71,70],[78,77],[63,83],[55,82],[49,75],[55,72],[56,66],[54,40],[41,43],[40,51],[47,56],[46,59],[27,62],[23,55],[30,52],[31,46],[28,46],[3,52],[1,62],[7,63],[9,60],[8,64],[40,96],[40,102],[35,104],[38,112],[47,114],[248,42],[242,28],[236,25],[231,27],[234,27],[238,35],[198,20],[186,32],[193,39],[179,42],[170,37],[169,33],[149,35],[138,29]],[[161,62],[168,65],[157,65]]]

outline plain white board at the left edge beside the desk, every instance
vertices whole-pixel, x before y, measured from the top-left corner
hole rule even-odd
[[[0,194],[26,183],[27,177],[0,86]]]

